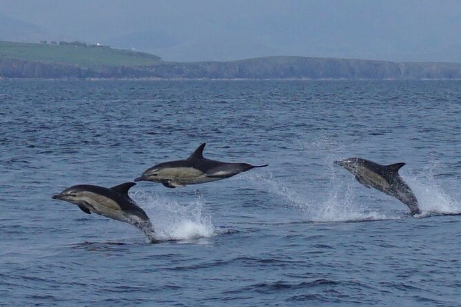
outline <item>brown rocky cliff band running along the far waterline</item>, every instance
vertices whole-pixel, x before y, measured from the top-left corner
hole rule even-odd
[[[249,79],[421,79],[461,78],[458,63],[396,63],[354,59],[271,56],[228,62],[154,65],[96,65],[43,63],[0,57],[4,78],[249,78]]]

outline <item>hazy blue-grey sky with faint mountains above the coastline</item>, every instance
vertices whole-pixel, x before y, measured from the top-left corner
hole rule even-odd
[[[0,40],[79,40],[169,61],[331,56],[461,63],[458,0],[0,0]]]

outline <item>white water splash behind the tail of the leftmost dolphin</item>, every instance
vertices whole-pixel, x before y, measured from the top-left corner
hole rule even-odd
[[[192,240],[214,235],[211,218],[203,216],[200,201],[181,205],[144,191],[134,192],[132,198],[149,215],[156,240]]]

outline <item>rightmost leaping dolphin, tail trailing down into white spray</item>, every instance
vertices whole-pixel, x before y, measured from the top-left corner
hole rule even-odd
[[[411,215],[421,213],[416,196],[398,174],[398,170],[405,163],[379,165],[378,163],[361,158],[349,158],[334,161],[334,164],[340,165],[353,173],[357,181],[365,185],[365,187],[373,187],[378,191],[397,198],[409,207]]]

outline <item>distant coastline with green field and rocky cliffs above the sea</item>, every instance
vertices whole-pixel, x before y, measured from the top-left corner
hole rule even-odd
[[[81,43],[0,42],[1,78],[148,80],[461,79],[461,63],[392,62],[304,56],[166,62],[145,52]]]

